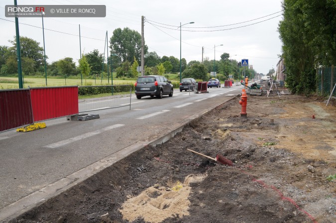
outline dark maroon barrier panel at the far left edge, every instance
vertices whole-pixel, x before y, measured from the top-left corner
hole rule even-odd
[[[0,90],[0,131],[33,123],[27,89]]]

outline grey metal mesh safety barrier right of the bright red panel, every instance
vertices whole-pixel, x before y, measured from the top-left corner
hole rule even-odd
[[[129,106],[131,109],[132,86],[103,85],[79,86],[79,112],[91,112]]]

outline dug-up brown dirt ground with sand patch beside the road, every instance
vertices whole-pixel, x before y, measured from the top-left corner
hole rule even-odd
[[[335,223],[336,101],[249,96],[247,117],[238,101],[11,223]]]

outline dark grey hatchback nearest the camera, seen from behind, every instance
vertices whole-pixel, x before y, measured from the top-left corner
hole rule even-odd
[[[169,95],[173,97],[173,85],[171,81],[168,81],[167,78],[163,76],[142,76],[137,79],[134,84],[135,86],[135,95],[137,99],[141,99],[143,96],[156,96],[159,99],[162,99],[163,95]]]

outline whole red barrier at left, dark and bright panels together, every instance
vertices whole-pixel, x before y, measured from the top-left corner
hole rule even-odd
[[[0,90],[0,132],[78,114],[78,86]]]

